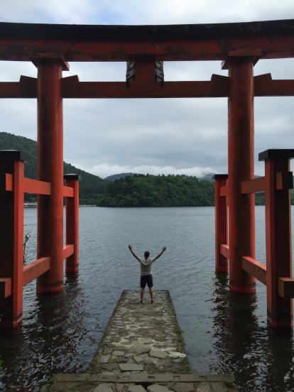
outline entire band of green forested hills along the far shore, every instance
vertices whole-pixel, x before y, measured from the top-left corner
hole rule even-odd
[[[31,157],[25,164],[25,176],[37,178],[37,142],[23,136],[0,132],[0,150],[20,150]],[[82,175],[80,205],[99,207],[205,207],[214,206],[214,182],[183,175],[143,175],[122,173],[99,178],[63,163],[65,174]],[[110,179],[109,178],[109,179]],[[116,180],[114,180],[116,178]],[[113,181],[114,180],[114,181]],[[291,195],[294,205],[294,195]],[[25,202],[35,202],[36,195],[25,195]],[[264,205],[264,194],[255,197],[256,205]]]

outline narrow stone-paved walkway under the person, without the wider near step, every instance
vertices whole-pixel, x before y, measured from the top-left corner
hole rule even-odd
[[[109,354],[107,364],[119,364],[117,370],[121,373],[137,370],[144,374],[178,374],[191,370],[168,290],[155,290],[153,304],[149,293],[141,304],[138,290],[124,290],[89,365],[89,372],[104,374],[109,371],[102,366]],[[124,358],[124,363],[117,358],[119,356]]]

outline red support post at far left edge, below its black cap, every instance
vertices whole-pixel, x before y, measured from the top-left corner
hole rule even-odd
[[[23,319],[23,160],[0,161],[0,172],[13,178],[13,192],[0,192],[0,278],[12,283],[0,300],[0,327],[13,328]]]

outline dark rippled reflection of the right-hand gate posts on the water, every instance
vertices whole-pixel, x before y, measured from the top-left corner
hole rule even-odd
[[[241,391],[293,391],[292,335],[258,325],[256,295],[229,292],[227,276],[216,274],[214,285],[214,346],[220,366],[211,371],[231,371]]]

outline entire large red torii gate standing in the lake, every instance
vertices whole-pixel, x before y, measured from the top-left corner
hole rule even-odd
[[[67,187],[63,186],[62,99],[228,97],[229,170],[228,175],[215,176],[216,269],[227,272],[229,258],[229,287],[237,293],[254,293],[256,278],[265,283],[268,321],[273,327],[292,327],[289,159],[294,150],[261,153],[266,176],[254,179],[254,96],[292,96],[294,80],[272,80],[271,74],[254,77],[253,70],[258,60],[293,57],[293,20],[176,26],[0,23],[0,60],[32,61],[38,67],[37,79],[21,76],[19,82],[0,82],[0,98],[38,101],[38,181],[23,179],[23,154],[0,153],[0,314],[4,315],[0,326],[16,327],[21,322],[23,284],[37,278],[38,293],[62,290],[63,259],[69,256],[72,270],[77,271],[78,179],[67,178]],[[206,82],[155,81],[156,61],[189,60],[222,60],[229,77],[212,75]],[[71,61],[135,62],[135,78],[80,82],[77,76],[62,77]],[[255,260],[254,192],[264,190],[266,266]],[[13,191],[10,199],[9,191]],[[38,260],[23,271],[21,203],[23,192],[32,191],[39,194]],[[65,248],[64,196],[72,212]],[[9,251],[2,253],[7,244]]]

